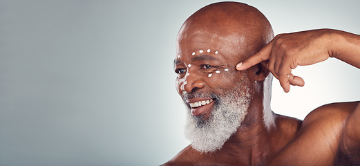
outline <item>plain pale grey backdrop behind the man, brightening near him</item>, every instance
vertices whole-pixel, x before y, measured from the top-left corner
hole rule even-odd
[[[175,89],[176,34],[216,1],[0,0],[0,165],[160,165],[189,142]],[[360,34],[360,1],[244,1],[274,33]],[[359,69],[337,59],[273,85],[272,109],[303,119],[359,100]]]

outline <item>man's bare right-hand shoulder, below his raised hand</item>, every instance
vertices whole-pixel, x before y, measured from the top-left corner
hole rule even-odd
[[[345,124],[358,104],[332,103],[314,109],[301,122],[294,138],[276,155],[271,165],[337,163]]]

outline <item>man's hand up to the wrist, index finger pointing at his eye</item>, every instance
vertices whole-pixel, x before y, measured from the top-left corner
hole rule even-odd
[[[334,30],[309,30],[299,33],[277,35],[258,53],[240,62],[236,69],[244,71],[262,61],[268,60],[267,68],[279,80],[285,92],[290,84],[303,86],[301,77],[292,75],[292,69],[322,62],[333,57],[332,33]]]

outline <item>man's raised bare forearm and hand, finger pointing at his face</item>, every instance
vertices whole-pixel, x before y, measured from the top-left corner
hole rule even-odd
[[[288,92],[290,84],[305,84],[301,77],[292,75],[292,69],[299,65],[316,64],[329,57],[336,57],[360,68],[360,36],[331,29],[277,35],[258,53],[240,62],[236,68],[243,71],[268,60],[269,71],[279,80],[284,91]]]

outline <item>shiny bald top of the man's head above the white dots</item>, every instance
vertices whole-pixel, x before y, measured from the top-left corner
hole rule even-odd
[[[178,33],[178,48],[201,42],[197,37],[208,42],[225,39],[229,43],[219,43],[222,48],[226,46],[234,55],[245,59],[265,46],[274,33],[269,21],[256,8],[245,3],[220,2],[201,8],[184,22]]]

